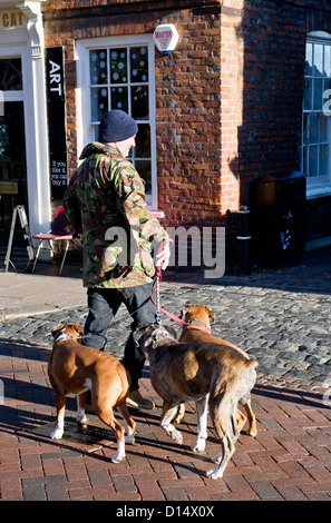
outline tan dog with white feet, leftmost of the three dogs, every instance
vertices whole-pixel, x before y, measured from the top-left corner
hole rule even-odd
[[[66,395],[77,395],[77,421],[85,423],[87,391],[91,391],[91,406],[101,422],[109,426],[117,437],[117,453],[113,463],[125,457],[125,441],[134,443],[136,423],[130,417],[126,396],[129,392],[129,375],[115,357],[81,345],[82,330],[79,325],[60,325],[51,332],[53,346],[48,363],[50,384],[56,392],[57,426],[50,434],[60,440],[65,430]],[[115,420],[118,409],[127,423],[128,435]]]

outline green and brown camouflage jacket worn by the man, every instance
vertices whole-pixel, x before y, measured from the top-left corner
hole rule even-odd
[[[120,288],[152,282],[153,248],[168,237],[146,206],[144,181],[114,147],[93,142],[64,198],[82,233],[84,286]]]

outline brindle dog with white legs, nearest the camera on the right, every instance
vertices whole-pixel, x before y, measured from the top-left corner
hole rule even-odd
[[[193,450],[205,448],[208,404],[222,452],[214,458],[217,467],[207,476],[222,477],[241,431],[237,404],[246,402],[255,384],[257,362],[222,344],[177,342],[157,324],[136,332],[135,341],[148,356],[152,385],[163,398],[160,426],[175,442],[183,443],[181,432],[172,424],[177,407],[194,401],[198,423]]]

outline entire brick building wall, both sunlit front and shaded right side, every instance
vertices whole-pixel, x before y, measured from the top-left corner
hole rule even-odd
[[[328,0],[48,1],[46,46],[66,52],[69,174],[79,154],[75,40],[153,33],[166,22],[176,24],[181,41],[171,56],[156,51],[159,210],[165,226],[225,225],[234,253],[236,211],[249,204],[252,179],[300,169],[305,36],[331,32],[331,7]]]

